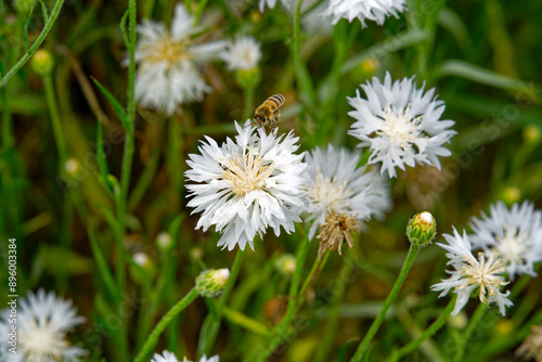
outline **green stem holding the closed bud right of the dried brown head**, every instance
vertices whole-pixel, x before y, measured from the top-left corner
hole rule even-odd
[[[389,307],[391,307],[391,303],[393,302],[393,299],[396,299],[397,294],[399,293],[399,289],[401,288],[401,285],[404,283],[404,280],[406,279],[406,275],[409,274],[409,271],[414,263],[414,259],[416,258],[417,254],[422,247],[417,244],[412,243],[409,249],[409,254],[406,255],[406,259],[404,260],[404,263],[401,268],[401,271],[399,272],[399,276],[397,277],[396,283],[393,284],[393,287],[391,288],[391,292],[389,293],[388,297],[386,298],[386,301],[384,302],[384,306],[382,307],[380,311],[378,312],[378,315],[376,315],[376,319],[374,320],[373,324],[371,325],[371,328],[369,328],[367,334],[363,338],[363,340],[360,342],[360,346],[356,350],[356,353],[353,354],[352,359],[350,362],[359,362],[363,359],[365,353],[369,350],[369,346],[371,341],[373,340],[374,336],[376,335],[376,332],[378,332],[378,328],[380,327],[382,322],[384,321],[384,318],[386,316],[386,312],[388,311]]]

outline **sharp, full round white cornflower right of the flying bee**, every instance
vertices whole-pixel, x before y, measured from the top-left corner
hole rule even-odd
[[[439,156],[448,157],[451,152],[442,146],[456,133],[449,130],[455,122],[440,120],[444,102],[434,98],[435,88],[424,94],[424,86],[416,89],[414,78],[396,80],[386,73],[384,83],[376,77],[373,83],[361,85],[366,94],[362,99],[356,90],[348,102],[356,111],[348,114],[357,120],[349,134],[361,140],[359,146],[371,150],[370,164],[382,161],[382,172],[397,177],[396,167],[404,165],[433,165],[440,169]]]

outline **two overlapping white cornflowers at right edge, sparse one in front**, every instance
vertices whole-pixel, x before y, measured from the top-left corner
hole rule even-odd
[[[508,210],[503,203],[490,206],[491,216],[470,221],[473,235],[463,236],[454,229],[453,236],[444,234],[447,244],[437,243],[446,249],[451,276],[435,284],[440,297],[450,290],[457,295],[452,315],[467,303],[473,292],[481,302],[495,302],[502,315],[513,305],[507,298],[509,290],[501,287],[514,280],[516,274],[535,275],[533,263],[542,261],[542,214],[531,203],[514,204]],[[473,248],[483,251],[473,255]]]

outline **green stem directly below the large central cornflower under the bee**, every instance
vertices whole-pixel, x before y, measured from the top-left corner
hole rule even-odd
[[[235,256],[235,260],[233,260],[233,266],[230,270],[230,277],[225,283],[225,287],[220,295],[217,305],[217,314],[216,316],[212,313],[209,313],[204,321],[204,327],[202,327],[202,333],[199,334],[199,338],[203,344],[198,344],[197,352],[199,354],[209,354],[212,346],[215,346],[215,340],[217,339],[218,329],[220,328],[220,321],[222,320],[222,315],[224,313],[225,302],[228,301],[228,297],[233,290],[233,285],[235,284],[235,280],[237,279],[238,272],[241,270],[241,264],[243,262],[243,258],[245,256],[245,250],[238,250]],[[206,332],[203,334],[203,332]]]

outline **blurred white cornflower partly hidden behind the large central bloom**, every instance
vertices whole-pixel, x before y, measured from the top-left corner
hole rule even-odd
[[[315,148],[306,157],[309,204],[302,208],[314,220],[309,230],[312,240],[330,212],[356,217],[359,224],[382,218],[391,207],[387,180],[367,167],[358,167],[360,154],[347,148]]]

